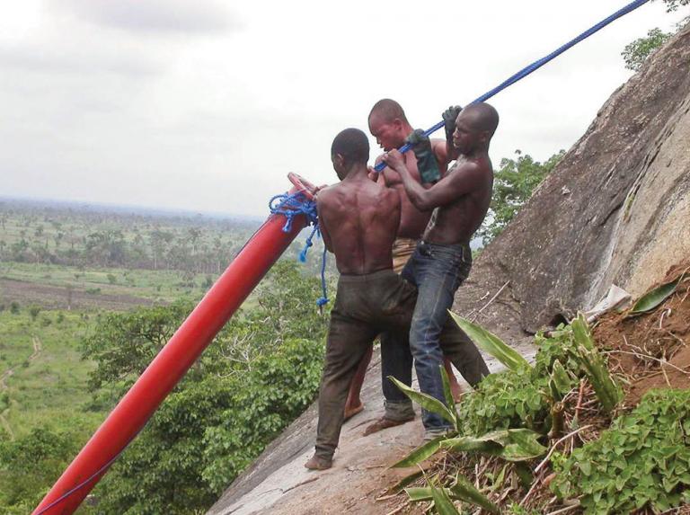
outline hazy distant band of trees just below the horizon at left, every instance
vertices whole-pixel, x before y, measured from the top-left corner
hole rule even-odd
[[[258,225],[234,219],[10,207],[0,202],[0,262],[217,275]],[[303,246],[304,239],[297,238],[288,256],[296,258]],[[306,270],[316,273],[318,250],[311,254]]]

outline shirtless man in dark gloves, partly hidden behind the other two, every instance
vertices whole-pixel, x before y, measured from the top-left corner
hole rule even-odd
[[[455,124],[456,116],[459,111],[460,108],[450,108],[444,113],[444,118],[450,118],[451,124]],[[376,138],[376,143],[378,143],[379,147],[383,148],[385,152],[394,148],[403,147],[406,138],[410,136],[412,132],[412,127],[405,116],[403,107],[398,102],[387,98],[374,104],[374,107],[369,112],[368,124],[369,132]],[[407,169],[416,181],[425,183],[436,182],[440,176],[446,173],[448,163],[457,157],[457,150],[453,147],[451,136],[452,130],[450,134],[448,134],[446,140],[438,138],[430,140],[429,158],[436,161],[438,176],[434,176],[435,173],[432,172],[430,177],[427,178],[427,181],[422,181],[420,177],[420,173],[417,169],[417,157],[414,153],[408,152],[404,155]],[[377,159],[376,162],[378,163],[379,160],[380,158]],[[376,178],[376,175],[374,175],[373,178]],[[415,208],[414,204],[411,203],[411,200],[405,194],[403,182],[399,176],[388,176],[387,178],[390,179],[387,185],[398,191],[402,202],[400,226],[397,232],[398,237],[393,244],[393,270],[396,273],[400,273],[403,271],[405,263],[408,262],[412,253],[414,253],[417,242],[420,240],[421,235],[424,233],[424,229],[429,223],[431,212],[424,212]],[[383,174],[378,175],[378,179],[384,182]],[[383,338],[385,338],[385,335]],[[359,395],[364,383],[364,377],[367,374],[369,361],[371,361],[371,350],[369,350],[362,359],[357,373],[352,380],[352,384],[350,385],[348,401],[347,404],[345,404],[346,420],[364,409],[364,404],[362,404]],[[462,389],[457,383],[456,375],[453,373],[450,360],[447,358],[444,359],[444,366],[446,367],[453,396],[458,398],[462,395]],[[389,403],[405,401],[406,397],[403,393],[387,379],[387,377],[391,375],[391,372],[392,370],[385,369],[385,367],[381,370],[386,401]],[[401,380],[405,382],[404,379]],[[390,421],[385,418],[380,419],[376,421],[375,424],[367,427],[365,435],[388,427],[393,427],[394,425],[399,425],[403,422],[406,421],[403,421],[400,417],[395,421]]]

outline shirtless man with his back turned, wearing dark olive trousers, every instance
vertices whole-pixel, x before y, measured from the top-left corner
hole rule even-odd
[[[316,206],[323,243],[335,253],[341,277],[326,342],[315,452],[305,463],[317,470],[332,466],[358,363],[379,333],[398,336],[382,345],[383,360],[390,346],[409,349],[407,336],[417,302],[416,289],[393,271],[391,248],[400,225],[400,196],[368,178],[367,136],[358,129],[343,130],[333,140],[331,155],[341,182],[319,191]],[[472,349],[474,358],[481,360],[456,324],[448,321],[443,333],[443,351],[456,366],[464,367]],[[480,379],[481,375],[475,377]]]

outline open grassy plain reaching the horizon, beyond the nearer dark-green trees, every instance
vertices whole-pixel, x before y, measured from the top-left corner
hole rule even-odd
[[[231,219],[0,202],[0,431],[13,438],[32,428],[63,430],[76,424],[90,434],[106,413],[87,392],[93,363],[81,359],[84,333],[98,330],[103,313],[199,300],[251,230],[248,223]],[[126,242],[127,266],[98,264],[98,247],[88,250],[90,235],[107,231],[119,232]],[[165,247],[170,255],[154,269],[152,245],[155,235],[164,233],[170,236]],[[304,236],[299,240],[286,259],[295,259]],[[22,241],[28,246],[14,252]],[[72,259],[66,253],[70,248],[77,251],[71,254],[75,262],[66,264]],[[207,261],[203,272],[195,271],[195,256],[217,262]],[[311,252],[305,273],[316,275],[319,257],[318,250]],[[135,262],[146,266],[129,266]],[[243,308],[256,305],[257,297],[251,296]]]

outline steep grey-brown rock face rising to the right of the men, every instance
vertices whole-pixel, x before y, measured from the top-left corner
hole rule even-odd
[[[690,25],[606,102],[482,253],[472,274],[481,288],[456,307],[469,311],[509,280],[512,299],[480,320],[534,333],[612,283],[640,295],[690,255],[689,189]]]

